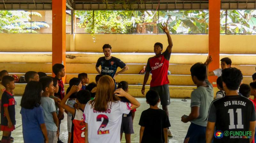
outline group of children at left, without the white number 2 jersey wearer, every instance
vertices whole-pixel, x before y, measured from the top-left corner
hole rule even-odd
[[[89,83],[86,73],[81,73],[78,78],[69,81],[69,87],[64,90],[62,77],[65,69],[62,64],[52,67],[55,77],[47,76],[43,72],[28,71],[25,74],[27,85],[21,98],[21,117],[23,139],[25,143],[49,142],[59,143],[60,123],[67,113],[68,143],[84,141],[84,108],[88,101],[93,100],[97,90],[97,83],[103,75],[96,76],[96,83]],[[11,132],[15,129],[15,100],[13,89],[14,78],[6,70],[0,72],[2,79],[1,99],[1,130],[3,131],[2,143],[11,142]],[[88,84],[89,83],[89,84]],[[86,86],[86,84],[88,84]],[[128,83],[122,81],[118,88],[128,92]],[[120,97],[122,102],[129,102],[125,97]],[[122,117],[121,139],[123,132],[127,143],[131,142],[133,132],[133,118],[136,110]],[[35,138],[36,137],[36,138]]]

